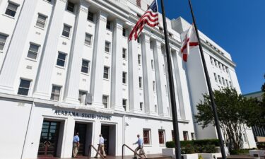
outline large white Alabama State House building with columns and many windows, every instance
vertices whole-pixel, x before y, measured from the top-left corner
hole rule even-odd
[[[163,40],[146,27],[128,42],[131,28],[152,0],[0,0],[0,156],[71,158],[73,134],[80,155],[105,137],[107,155],[122,155],[141,134],[148,154],[172,141]],[[213,126],[194,124],[207,92],[199,49],[188,62],[179,53],[183,18],[167,19],[175,78],[179,138],[216,139]],[[230,54],[201,33],[213,89],[240,93]],[[245,148],[255,147],[252,129]],[[126,150],[126,155],[132,155]],[[93,154],[95,155],[95,153]]]

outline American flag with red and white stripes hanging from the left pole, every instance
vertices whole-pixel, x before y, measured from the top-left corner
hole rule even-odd
[[[133,30],[131,30],[131,33],[129,35],[129,40],[136,40],[139,35],[141,34],[141,31],[143,30],[144,25],[147,24],[151,27],[155,27],[158,25],[158,5],[156,4],[156,0],[153,1],[153,3],[148,7],[146,13],[139,18],[136,25],[134,26]]]

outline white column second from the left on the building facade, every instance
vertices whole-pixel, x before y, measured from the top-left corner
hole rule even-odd
[[[33,96],[37,98],[49,99],[49,88],[51,87],[52,70],[57,57],[57,45],[62,32],[64,11],[66,8],[66,0],[57,0],[52,13],[52,20],[49,25],[49,32],[45,40],[45,46],[42,51],[42,59],[35,84],[35,93]]]

